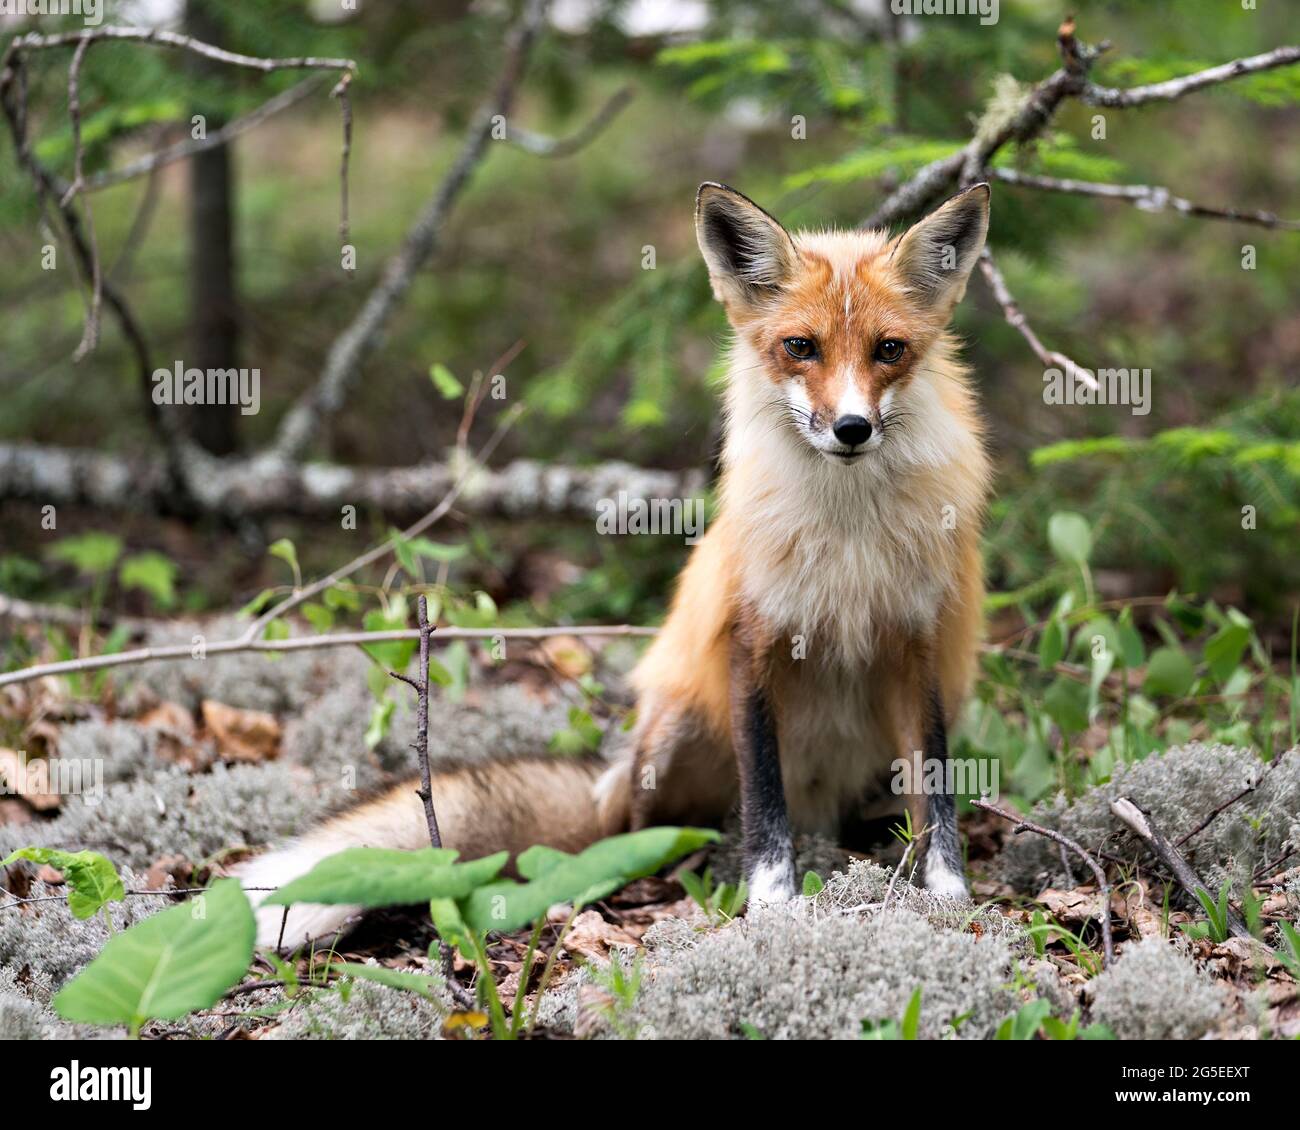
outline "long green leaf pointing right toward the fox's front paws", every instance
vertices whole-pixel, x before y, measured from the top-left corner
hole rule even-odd
[[[472,930],[517,930],[556,902],[584,905],[603,899],[719,839],[705,828],[671,827],[610,836],[576,856],[545,856],[543,874],[529,883],[503,879],[480,887],[462,902],[462,913]]]

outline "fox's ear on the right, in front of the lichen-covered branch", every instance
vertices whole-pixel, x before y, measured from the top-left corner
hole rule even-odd
[[[894,248],[893,261],[907,287],[930,306],[950,311],[988,234],[988,185],[975,185],[914,224]]]

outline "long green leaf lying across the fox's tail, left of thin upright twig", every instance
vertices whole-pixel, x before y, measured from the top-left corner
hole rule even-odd
[[[266,902],[410,906],[432,899],[464,899],[494,879],[510,852],[458,863],[450,848],[399,852],[390,848],[348,848],[321,860],[311,871],[272,892]]]

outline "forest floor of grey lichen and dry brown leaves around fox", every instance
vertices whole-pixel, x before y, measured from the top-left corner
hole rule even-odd
[[[187,640],[192,629],[173,623],[161,635]],[[220,629],[203,627],[212,638]],[[430,757],[538,753],[569,729],[576,703],[590,705],[575,676],[594,674],[604,701],[619,701],[632,654],[621,642],[598,650],[564,640],[519,649],[497,666],[473,657],[459,701],[434,697]],[[134,892],[125,925],[164,909],[179,897],[168,891],[203,887],[415,769],[413,694],[403,688],[387,732],[367,745],[369,666],[351,651],[234,655],[129,668],[99,685],[47,679],[0,692],[0,775],[8,769],[17,779],[22,762],[46,758],[78,761],[90,774],[79,795],[42,792],[23,774],[29,788],[0,797],[0,857],[27,845],[96,850]],[[595,720],[618,740],[618,719]],[[1088,869],[1056,844],[971,810],[962,834],[972,902],[918,889],[910,866],[896,880],[890,865],[902,849],[887,835],[870,858],[802,840],[800,871],[818,876],[810,893],[794,906],[745,913],[729,836],[576,915],[552,908],[540,934],[543,960],[520,997],[530,1018],[523,1030],[642,1039],[1300,1035],[1300,954],[1282,926],[1300,918],[1292,854],[1300,753],[1261,767],[1248,750],[1188,745],[1122,767],[1072,804],[1034,810],[1034,821],[1076,839],[1108,871],[1109,969]],[[1171,839],[1183,837],[1212,892],[1227,884],[1253,936],[1216,936],[1212,915],[1110,815],[1121,792]],[[49,1001],[100,951],[104,925],[72,915],[58,897],[64,876],[48,866],[13,863],[0,884],[0,1036],[87,1035]],[[516,999],[529,934],[490,940],[507,1003]],[[341,982],[328,974],[339,960],[429,974],[432,988]],[[328,953],[259,956],[216,1006],[152,1022],[142,1035],[482,1032],[486,1018],[467,1004],[474,967],[455,958],[465,990],[455,997],[439,984],[441,967],[426,914],[377,912]]]

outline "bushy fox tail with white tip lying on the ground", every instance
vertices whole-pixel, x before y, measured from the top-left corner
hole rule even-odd
[[[597,789],[602,774],[604,779]],[[580,850],[604,835],[624,831],[624,782],[625,770],[598,759],[540,757],[442,770],[433,775],[442,844],[460,852],[462,860],[477,860],[502,849],[515,854],[533,844]],[[283,887],[346,848],[429,847],[417,785],[412,778],[240,865],[240,883],[244,888]],[[269,893],[248,889],[248,899],[257,906]],[[280,944],[286,951],[315,940],[328,944],[360,910],[299,904],[290,908],[286,918],[282,906],[260,906],[257,944]]]

